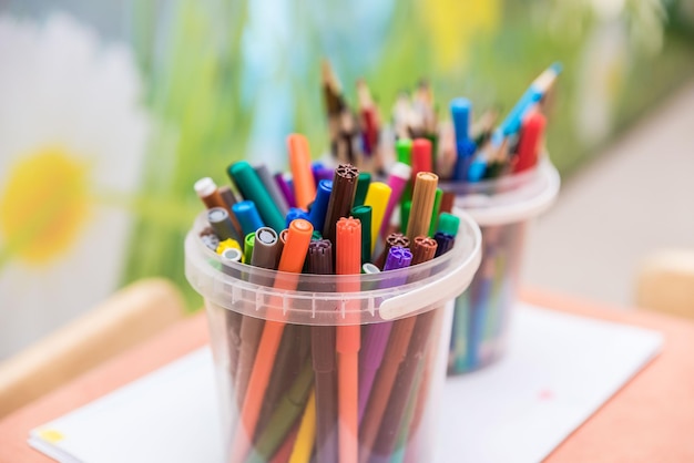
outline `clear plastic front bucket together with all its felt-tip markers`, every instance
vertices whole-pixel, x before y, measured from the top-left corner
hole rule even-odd
[[[207,206],[196,271],[226,278],[210,284],[224,287],[215,299],[188,277],[205,296],[224,378],[229,460],[426,461],[432,384],[445,375],[441,307],[477,269],[476,238],[437,203],[432,172],[417,173],[407,220],[388,220],[384,238],[398,182],[349,163],[317,172],[299,134],[287,146],[290,176],[237,162],[227,169],[235,192],[195,185]],[[421,292],[463,267],[467,279]],[[380,310],[410,290],[419,296]]]

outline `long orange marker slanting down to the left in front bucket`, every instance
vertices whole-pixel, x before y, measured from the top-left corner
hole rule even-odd
[[[292,274],[302,272],[313,233],[314,227],[308,220],[297,218],[289,224],[287,240],[282,256],[279,257],[277,270]],[[357,256],[359,256],[359,254],[357,254]],[[296,279],[277,278],[274,288],[292,290],[296,289]],[[279,296],[274,297],[271,305],[280,305],[279,299]],[[265,391],[267,390],[267,384],[273,371],[284,327],[284,322],[272,320],[267,320],[263,327],[263,335],[261,336],[261,342],[246,389],[246,398],[241,409],[239,426],[234,436],[234,444],[232,445],[233,462],[244,461],[251,449],[252,439],[253,435],[255,435],[255,428],[258,423],[263,399],[265,398]]]

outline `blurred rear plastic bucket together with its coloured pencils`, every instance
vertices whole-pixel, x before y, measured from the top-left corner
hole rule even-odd
[[[504,349],[525,224],[541,212],[541,207],[533,206],[544,202],[547,207],[553,200],[552,188],[558,185],[545,182],[543,189],[533,183],[542,183],[554,173],[545,155],[543,132],[549,94],[560,72],[559,63],[544,70],[500,122],[496,110],[484,112],[473,122],[472,104],[465,97],[450,102],[450,123],[439,121],[431,89],[422,81],[411,95],[398,96],[391,126],[381,130],[366,84],[361,81],[357,84],[358,107],[353,112],[329,66],[324,65],[323,88],[333,156],[341,160],[347,153],[357,163],[375,166],[376,172],[385,165],[395,165],[391,172],[404,169],[402,165],[411,166],[415,173],[436,172],[442,181],[437,202],[446,208],[456,204],[466,209],[481,228],[480,271],[469,290],[456,300],[450,373],[489,364]],[[408,193],[405,192],[399,205],[405,218],[410,207]],[[516,207],[514,213],[504,217],[509,206]]]

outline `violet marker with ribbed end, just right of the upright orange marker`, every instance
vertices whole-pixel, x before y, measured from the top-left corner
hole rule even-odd
[[[384,271],[409,267],[411,261],[412,253],[409,248],[394,246],[388,251]],[[382,287],[391,288],[400,286],[404,285],[406,280],[407,277],[405,275],[398,278],[390,278],[384,282]],[[364,411],[369,401],[376,372],[380,367],[380,362],[384,360],[384,353],[386,353],[386,346],[388,344],[391,328],[391,321],[367,326],[361,344],[361,361],[359,362],[361,366],[361,370],[359,371],[359,423],[364,418]]]

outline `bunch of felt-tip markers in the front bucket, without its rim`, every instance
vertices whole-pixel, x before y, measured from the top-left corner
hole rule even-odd
[[[396,275],[397,269],[443,260],[447,253],[453,255],[456,240],[465,238],[457,236],[461,220],[451,214],[451,204],[439,200],[436,174],[415,174],[411,205],[400,226],[391,224],[391,215],[409,183],[409,166],[395,168],[387,183],[372,182],[351,164],[313,169],[303,135],[289,135],[287,145],[290,178],[245,161],[228,167],[243,200],[208,177],[195,184],[208,208],[208,227],[198,233],[200,239],[222,263],[278,270],[256,277],[274,278],[268,284],[273,290],[297,287],[296,279],[280,274]],[[237,279],[248,278],[254,277]],[[380,284],[399,287],[408,278]],[[470,279],[471,274],[466,286]],[[356,287],[355,281],[339,281],[341,291],[364,289],[358,281]],[[392,322],[356,319],[337,326],[221,311],[223,337],[229,340],[222,375],[228,377],[225,389],[233,395],[229,407],[236,408],[228,418],[235,423],[232,461],[421,461],[430,451],[419,436],[442,310]]]

